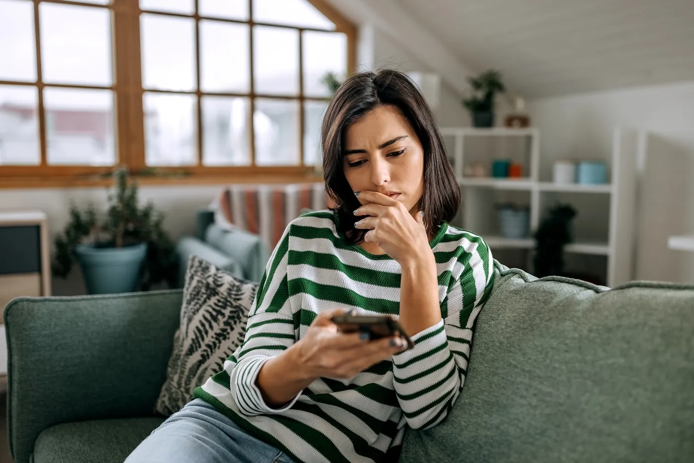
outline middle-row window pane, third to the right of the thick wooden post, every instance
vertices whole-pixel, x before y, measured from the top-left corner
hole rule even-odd
[[[253,78],[256,93],[298,94],[298,44],[296,29],[253,27]]]

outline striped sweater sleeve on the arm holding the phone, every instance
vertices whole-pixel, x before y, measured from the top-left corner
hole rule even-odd
[[[301,394],[296,394],[284,407],[273,408],[265,403],[255,384],[264,362],[285,351],[296,340],[287,285],[290,228],[291,225],[282,235],[260,280],[244,342],[225,365],[234,401],[247,416],[285,412]]]

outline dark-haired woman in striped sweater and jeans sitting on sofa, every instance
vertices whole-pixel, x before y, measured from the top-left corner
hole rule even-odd
[[[128,463],[395,461],[405,426],[455,403],[492,259],[447,224],[460,193],[430,108],[404,74],[356,74],[321,139],[334,210],[289,224],[244,344]],[[344,310],[398,316],[414,348],[339,332]]]

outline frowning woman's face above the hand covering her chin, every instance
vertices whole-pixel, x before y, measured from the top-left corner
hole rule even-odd
[[[424,150],[395,106],[379,106],[345,133],[344,173],[353,192],[387,194],[413,215],[422,196]]]

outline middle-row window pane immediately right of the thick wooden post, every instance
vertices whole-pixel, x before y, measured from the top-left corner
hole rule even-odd
[[[140,26],[142,85],[156,90],[195,90],[195,20],[144,14]]]

